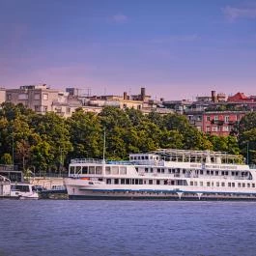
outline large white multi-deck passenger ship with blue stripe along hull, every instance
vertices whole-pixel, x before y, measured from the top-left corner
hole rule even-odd
[[[242,156],[160,149],[128,161],[72,159],[70,199],[256,200],[256,169]]]

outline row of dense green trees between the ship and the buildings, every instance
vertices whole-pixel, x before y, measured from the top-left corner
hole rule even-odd
[[[33,172],[59,172],[71,158],[126,159],[129,153],[158,148],[213,150],[247,156],[256,161],[256,113],[245,116],[237,134],[206,135],[189,125],[185,116],[156,112],[143,115],[135,109],[105,107],[99,115],[76,109],[70,118],[56,113],[37,114],[22,104],[0,108],[0,163]]]

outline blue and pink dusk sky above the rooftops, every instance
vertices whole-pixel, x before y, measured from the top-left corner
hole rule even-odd
[[[0,87],[256,95],[256,0],[0,0]]]

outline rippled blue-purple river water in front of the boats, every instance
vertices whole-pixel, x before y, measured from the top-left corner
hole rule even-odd
[[[256,203],[0,200],[0,256],[256,255]]]

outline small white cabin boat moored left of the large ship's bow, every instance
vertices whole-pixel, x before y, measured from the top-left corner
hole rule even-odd
[[[34,186],[26,183],[12,183],[10,196],[16,199],[39,199],[39,193]]]

